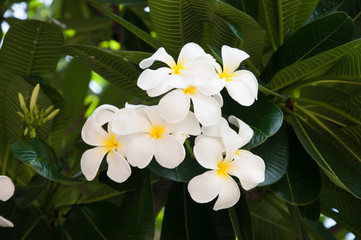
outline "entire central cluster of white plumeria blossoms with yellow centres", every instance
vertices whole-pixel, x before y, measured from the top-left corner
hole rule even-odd
[[[199,203],[218,196],[214,210],[233,206],[240,190],[232,176],[249,190],[263,182],[265,175],[263,160],[240,149],[250,141],[253,130],[230,116],[229,122],[239,128],[237,133],[221,112],[224,87],[243,106],[257,99],[256,77],[250,71],[237,70],[248,57],[242,50],[223,46],[222,67],[199,45],[188,43],[177,62],[164,48],[141,61],[139,66],[145,70],[137,85],[150,97],[165,95],[155,106],[126,104],[118,109],[102,105],[94,111],[81,133],[84,142],[94,146],[81,158],[87,180],[95,178],[105,155],[107,175],[119,183],[131,175],[130,165],[145,168],[153,157],[162,167],[175,168],[185,158],[184,142],[196,136],[194,156],[209,171],[191,179],[190,196]],[[166,66],[149,69],[155,61]]]

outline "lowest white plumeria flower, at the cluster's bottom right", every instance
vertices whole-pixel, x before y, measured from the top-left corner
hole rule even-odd
[[[244,128],[243,124],[241,127]],[[191,179],[188,191],[198,203],[210,202],[218,196],[214,210],[229,208],[237,203],[241,194],[232,176],[249,190],[264,181],[265,164],[259,156],[239,149],[249,139],[249,130],[242,137],[242,132],[237,134],[228,124],[220,123],[208,132],[215,137],[203,135],[199,138],[194,155],[201,166],[210,170]],[[219,135],[222,141],[219,141]]]

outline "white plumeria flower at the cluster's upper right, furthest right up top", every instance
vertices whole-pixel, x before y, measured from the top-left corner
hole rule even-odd
[[[222,67],[215,63],[218,78],[223,81],[228,94],[239,104],[250,106],[257,100],[258,82],[252,72],[237,70],[241,62],[249,58],[249,55],[237,48],[224,45],[222,47]]]

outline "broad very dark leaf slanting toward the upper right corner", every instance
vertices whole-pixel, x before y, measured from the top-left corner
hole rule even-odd
[[[281,69],[349,42],[352,34],[352,20],[341,12],[307,24],[292,34],[272,55],[261,80],[267,83]]]

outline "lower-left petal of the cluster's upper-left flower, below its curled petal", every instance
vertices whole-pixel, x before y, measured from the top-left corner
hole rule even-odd
[[[169,68],[158,68],[157,70],[146,69],[138,77],[137,85],[143,90],[157,87],[170,73]]]

